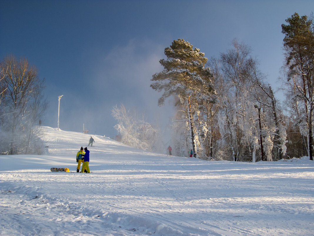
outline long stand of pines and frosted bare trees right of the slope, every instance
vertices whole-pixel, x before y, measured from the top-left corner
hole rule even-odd
[[[313,160],[313,15],[295,13],[286,22],[288,114],[258,69],[252,49],[237,39],[226,53],[209,60],[184,39],[165,48],[167,59],[160,60],[164,70],[153,75],[151,87],[164,92],[159,105],[175,97],[172,142],[177,155],[193,149],[203,159],[270,161],[305,154]]]

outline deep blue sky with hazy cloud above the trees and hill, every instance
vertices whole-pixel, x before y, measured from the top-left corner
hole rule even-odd
[[[183,38],[219,57],[237,37],[252,49],[269,83],[283,65],[281,24],[297,12],[309,16],[314,1],[15,1],[0,0],[0,59],[23,56],[46,79],[49,103],[43,125],[114,137],[111,109],[121,103],[168,124],[171,99],[149,85],[163,68],[164,49]]]

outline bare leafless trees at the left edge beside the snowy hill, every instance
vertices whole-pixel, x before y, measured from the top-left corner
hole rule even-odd
[[[0,62],[0,154],[41,154],[36,126],[46,110],[44,80],[25,58],[9,55]]]

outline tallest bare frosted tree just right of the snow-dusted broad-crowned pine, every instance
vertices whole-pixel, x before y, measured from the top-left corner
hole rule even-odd
[[[219,130],[229,143],[232,158],[246,160],[246,156],[252,158],[257,138],[250,82],[252,49],[236,39],[231,44],[233,48],[221,53],[219,59]]]

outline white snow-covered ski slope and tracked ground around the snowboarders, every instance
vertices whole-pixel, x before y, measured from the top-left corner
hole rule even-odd
[[[314,162],[204,161],[45,127],[46,155],[0,156],[0,235],[312,236]],[[51,172],[68,167],[75,172]]]

